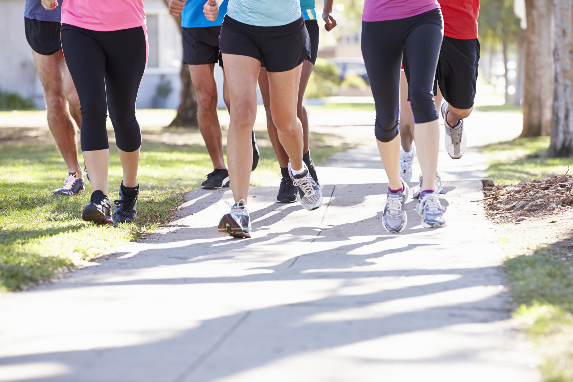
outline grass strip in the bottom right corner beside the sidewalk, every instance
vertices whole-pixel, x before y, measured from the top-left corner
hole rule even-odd
[[[520,304],[513,317],[543,357],[541,371],[547,382],[573,381],[571,260],[566,250],[546,247],[505,262],[512,298]]]

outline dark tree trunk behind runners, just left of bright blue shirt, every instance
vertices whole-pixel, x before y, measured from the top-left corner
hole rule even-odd
[[[168,0],[163,0],[165,6],[169,8]],[[175,23],[181,28],[181,16],[173,16]],[[182,60],[183,61],[183,60]],[[191,82],[191,73],[189,73],[189,65],[181,64],[181,96],[179,108],[175,119],[171,121],[169,126],[182,126],[182,127],[197,127],[197,93],[193,82]]]

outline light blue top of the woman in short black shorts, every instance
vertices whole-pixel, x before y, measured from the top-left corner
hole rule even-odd
[[[286,25],[300,18],[300,0],[229,0],[227,15],[249,25]]]

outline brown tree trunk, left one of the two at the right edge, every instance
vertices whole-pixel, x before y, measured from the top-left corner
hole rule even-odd
[[[520,137],[551,134],[555,41],[553,0],[525,0],[525,79]]]

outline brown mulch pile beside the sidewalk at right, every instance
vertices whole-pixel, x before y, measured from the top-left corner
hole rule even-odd
[[[563,175],[519,184],[484,187],[484,202],[490,211],[548,212],[573,205],[573,176]]]

